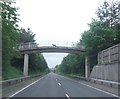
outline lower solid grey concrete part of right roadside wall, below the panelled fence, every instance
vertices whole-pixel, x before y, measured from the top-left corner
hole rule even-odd
[[[120,63],[112,63],[107,65],[96,65],[94,66],[90,78],[109,80],[109,81],[120,81],[118,75],[120,71]]]

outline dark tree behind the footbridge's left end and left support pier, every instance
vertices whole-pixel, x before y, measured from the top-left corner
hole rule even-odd
[[[26,43],[26,42],[33,42],[35,34],[28,28],[27,30],[21,28],[20,30],[20,39],[18,43]],[[36,44],[36,43],[35,43]],[[37,45],[36,45],[37,46]],[[21,56],[20,58],[14,58],[12,60],[12,65],[16,68],[19,68],[23,71],[23,61],[24,56]],[[29,74],[38,74],[41,72],[45,72],[48,68],[47,63],[43,57],[42,54],[29,54]]]

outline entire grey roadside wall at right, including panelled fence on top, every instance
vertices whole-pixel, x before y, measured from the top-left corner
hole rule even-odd
[[[120,81],[120,43],[98,53],[98,65],[93,67],[89,78]]]

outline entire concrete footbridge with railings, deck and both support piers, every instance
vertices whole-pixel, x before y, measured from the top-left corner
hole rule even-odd
[[[24,76],[28,76],[29,54],[30,53],[84,53],[85,49],[82,46],[77,46],[74,42],[63,41],[44,41],[44,42],[26,42],[17,45],[16,50],[24,54]],[[87,57],[85,59],[85,75],[86,78],[90,74],[90,67],[87,63]]]

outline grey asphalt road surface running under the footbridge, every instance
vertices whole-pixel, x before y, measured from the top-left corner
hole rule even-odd
[[[12,97],[114,97],[111,94],[96,90],[81,82],[55,73],[49,73],[34,84],[27,86]]]

